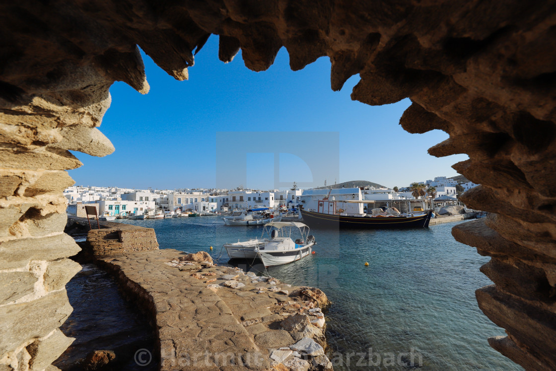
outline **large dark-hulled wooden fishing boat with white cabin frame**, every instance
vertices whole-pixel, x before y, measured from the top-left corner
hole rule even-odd
[[[342,204],[371,204],[373,201],[353,200],[335,201],[322,199],[317,202],[317,210],[306,210],[301,206],[303,221],[312,227],[326,227],[335,229],[390,229],[390,228],[426,228],[429,226],[433,210],[420,212],[399,212],[390,208],[391,212],[345,212]],[[359,206],[359,205],[358,205]],[[390,210],[389,209],[389,210]],[[373,209],[377,210],[377,209]],[[388,211],[389,211],[388,210]],[[361,207],[363,211],[363,207]]]

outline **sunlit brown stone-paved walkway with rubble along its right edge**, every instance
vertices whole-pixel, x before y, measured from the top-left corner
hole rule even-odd
[[[332,369],[322,291],[185,257],[163,249],[97,261],[151,316],[161,370]]]

